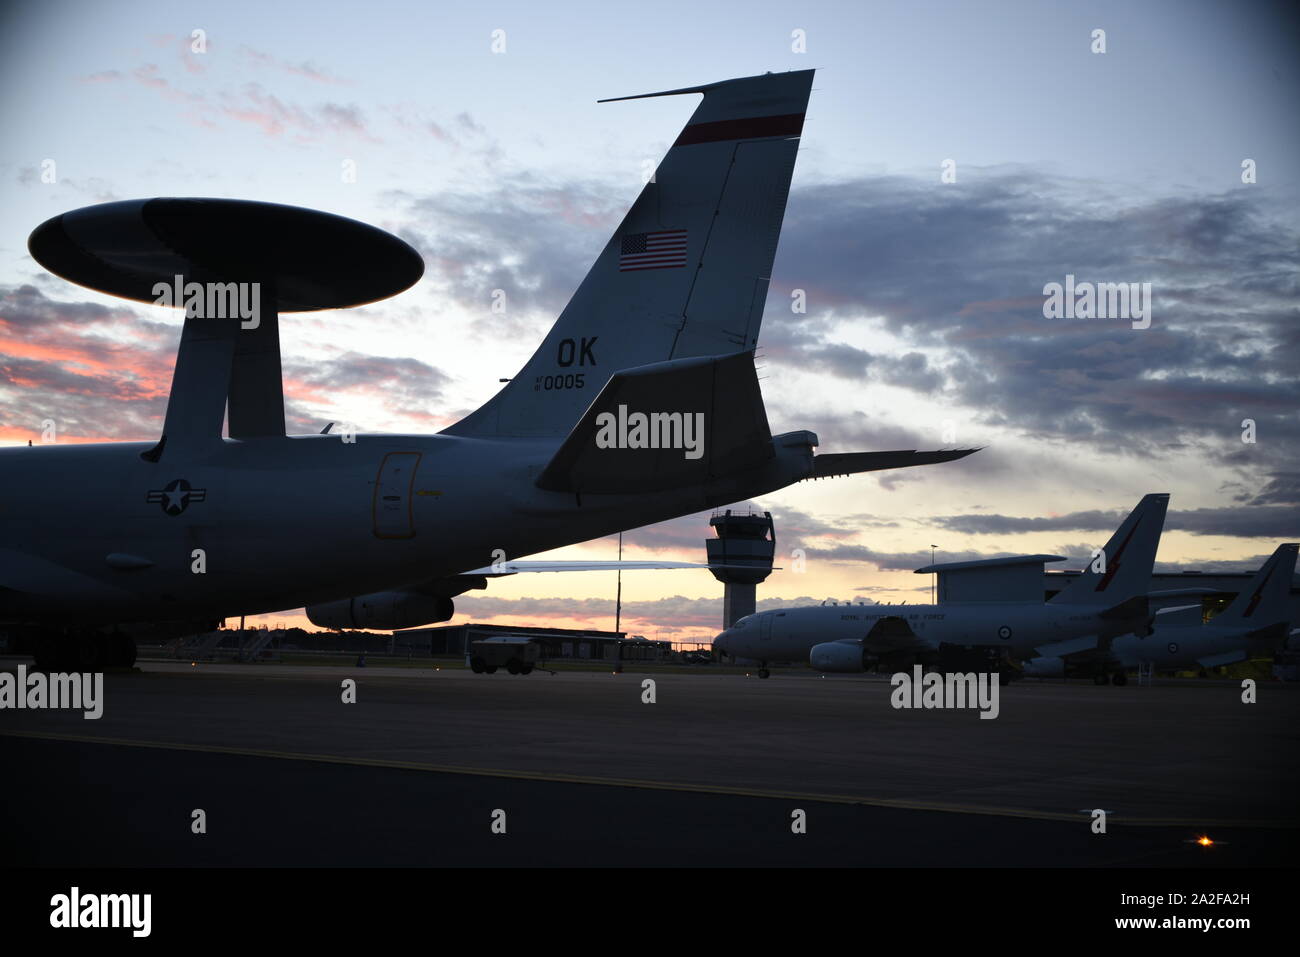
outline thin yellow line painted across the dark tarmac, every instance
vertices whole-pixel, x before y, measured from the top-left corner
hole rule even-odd
[[[815,794],[796,791],[764,791],[760,788],[733,788],[724,784],[682,784],[653,781],[636,778],[597,778],[594,775],[558,774],[554,771],[511,771],[491,767],[462,767],[456,765],[429,765],[416,761],[391,761],[387,758],[356,758],[341,754],[312,754],[306,752],[276,752],[261,748],[225,748],[207,744],[183,744],[177,741],[136,741],[120,737],[96,737],[94,735],[65,735],[49,731],[0,731],[0,737],[30,737],[49,741],[74,741],[79,744],[116,744],[125,748],[156,748],[161,750],[198,752],[202,754],[234,754],[248,758],[278,758],[281,761],[315,761],[322,765],[350,765],[355,767],[389,767],[402,771],[434,771],[437,774],[462,774],[480,778],[512,778],[529,781],[549,781],[554,784],[595,784],[614,788],[644,788],[650,791],[679,791],[694,794],[728,794],[733,797],[763,797],[786,801],[816,801],[820,804],[852,804],[868,807],[893,807],[909,811],[941,811],[946,814],[983,814],[1000,818],[1030,818],[1035,820],[1067,820],[1083,823],[1088,815],[1066,811],[1036,811],[1022,807],[996,807],[991,805],[945,804],[940,801],[896,800],[887,797],[862,797],[857,794]],[[1117,826],[1130,827],[1271,827],[1295,828],[1294,820],[1213,820],[1184,818],[1123,818],[1109,815]]]

